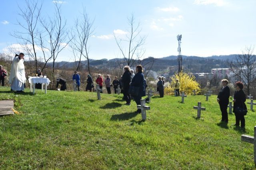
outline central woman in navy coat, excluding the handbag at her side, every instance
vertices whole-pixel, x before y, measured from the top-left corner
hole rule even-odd
[[[145,92],[145,82],[144,82],[144,75],[143,75],[143,69],[141,65],[136,66],[136,74],[132,78],[132,82],[130,82],[130,86],[135,86],[139,87],[139,95],[138,96],[133,96],[134,101],[136,102],[137,105],[140,105],[140,99],[143,96],[146,96]],[[141,113],[141,109],[137,109],[138,113]]]

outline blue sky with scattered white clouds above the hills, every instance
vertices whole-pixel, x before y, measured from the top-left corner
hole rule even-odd
[[[120,57],[114,32],[125,34],[127,17],[132,13],[146,35],[145,57],[177,55],[176,36],[182,34],[182,55],[229,55],[241,53],[246,45],[255,45],[256,0],[63,0],[62,16],[71,28],[82,6],[95,18],[94,37],[90,37],[90,58]],[[10,33],[20,28],[18,7],[24,0],[1,0],[0,52],[17,41]],[[54,13],[52,0],[44,0],[44,16]],[[40,54],[40,52],[38,52]],[[58,61],[72,61],[68,47]]]

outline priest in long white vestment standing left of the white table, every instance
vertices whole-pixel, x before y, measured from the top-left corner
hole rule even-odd
[[[9,83],[12,85],[11,90],[23,91],[26,83],[24,54],[15,55],[10,72]]]

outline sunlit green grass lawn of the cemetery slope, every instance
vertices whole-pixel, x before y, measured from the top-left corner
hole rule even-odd
[[[256,113],[246,116],[246,131],[219,123],[216,96],[152,98],[147,121],[136,104],[121,96],[40,90],[33,96],[0,87],[0,100],[14,99],[21,115],[0,117],[0,169],[254,169]],[[16,96],[17,95],[17,96]],[[202,102],[201,119],[193,106]],[[249,108],[249,107],[248,107]]]

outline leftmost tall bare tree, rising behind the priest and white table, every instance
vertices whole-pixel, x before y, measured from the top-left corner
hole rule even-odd
[[[16,37],[22,45],[24,51],[29,56],[29,60],[33,61],[30,63],[35,64],[35,70],[38,68],[38,57],[36,54],[36,47],[39,39],[40,32],[38,31],[38,20],[40,18],[42,3],[38,3],[38,1],[34,0],[25,0],[26,8],[19,8],[18,15],[22,18],[22,21],[17,20],[17,25],[22,29],[18,29],[14,31],[14,33],[10,33],[13,37]],[[20,31],[22,30],[22,31]]]

